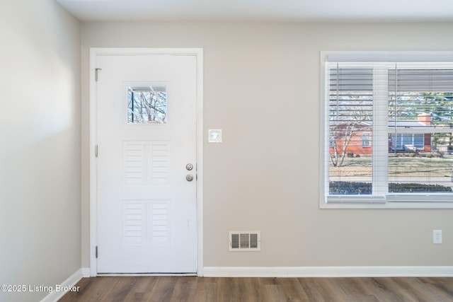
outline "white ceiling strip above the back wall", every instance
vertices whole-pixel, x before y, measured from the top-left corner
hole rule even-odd
[[[56,0],[80,21],[453,21],[453,0]]]

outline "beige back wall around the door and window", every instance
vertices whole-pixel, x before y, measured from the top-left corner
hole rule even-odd
[[[452,266],[452,210],[319,209],[319,52],[452,50],[453,23],[83,23],[82,266],[89,266],[88,48],[203,47],[206,267]],[[432,245],[432,230],[444,243]],[[260,230],[261,252],[228,252]]]

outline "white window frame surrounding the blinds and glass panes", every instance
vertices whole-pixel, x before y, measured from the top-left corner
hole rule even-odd
[[[453,52],[354,52],[354,51],[321,51],[320,53],[320,208],[321,209],[453,209],[453,194],[392,194],[380,195],[328,195],[328,146],[329,137],[328,110],[326,102],[328,81],[326,65],[329,62],[348,62],[357,64],[390,64],[398,63],[429,63],[453,64]],[[379,110],[374,108],[374,110]],[[373,132],[382,129],[373,129]],[[372,134],[370,143],[379,146],[375,141],[377,135]],[[414,139],[414,138],[413,138]],[[385,146],[388,148],[388,146]],[[373,156],[373,161],[376,159]],[[386,167],[387,168],[387,167]],[[373,171],[373,178],[375,177]],[[382,173],[382,171],[381,171]],[[382,185],[381,182],[379,182]],[[386,184],[384,184],[386,185]],[[379,190],[379,189],[378,189]]]

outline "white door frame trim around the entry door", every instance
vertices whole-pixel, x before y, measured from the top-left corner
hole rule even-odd
[[[197,276],[203,275],[203,49],[202,48],[122,48],[122,47],[91,47],[89,63],[89,110],[90,110],[90,155],[89,155],[89,184],[90,184],[90,276],[98,275],[96,246],[98,245],[98,162],[96,159],[96,145],[98,144],[97,129],[97,86],[96,63],[97,57],[108,55],[189,55],[196,57],[196,153],[197,153]],[[102,76],[102,71],[99,72]],[[142,275],[142,274],[140,274]]]

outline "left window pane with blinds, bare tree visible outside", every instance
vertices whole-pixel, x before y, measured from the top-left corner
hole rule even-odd
[[[373,69],[332,66],[328,102],[329,194],[372,194]]]

